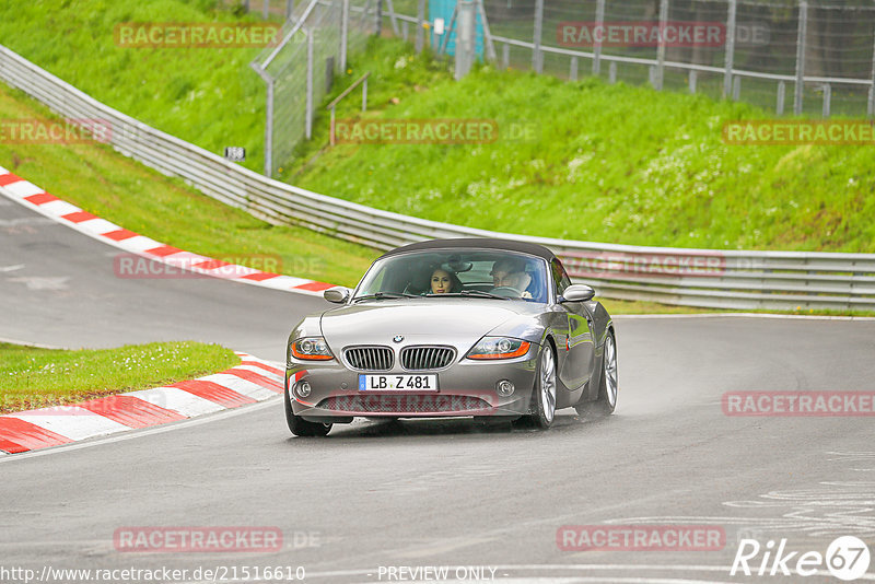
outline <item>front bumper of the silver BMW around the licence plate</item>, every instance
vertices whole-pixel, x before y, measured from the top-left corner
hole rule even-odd
[[[464,416],[495,416],[516,418],[528,413],[535,385],[538,346],[532,344],[522,357],[501,361],[462,359],[440,371],[410,372],[397,365],[385,374],[434,373],[438,392],[359,390],[359,375],[365,372],[348,369],[331,361],[298,361],[287,364],[285,387],[291,397],[292,412],[305,420],[326,421],[331,418],[434,418]],[[503,397],[495,388],[508,379],[514,393]],[[295,392],[306,381],[307,397]]]

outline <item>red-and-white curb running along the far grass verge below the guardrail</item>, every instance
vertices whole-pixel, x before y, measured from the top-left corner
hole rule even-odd
[[[311,295],[322,295],[324,290],[334,285],[306,278],[260,271],[184,252],[83,211],[74,205],[49,195],[44,189],[12,174],[2,166],[0,166],[0,194],[90,237],[177,269]]]

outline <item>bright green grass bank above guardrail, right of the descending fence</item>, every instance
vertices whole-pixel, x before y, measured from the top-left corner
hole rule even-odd
[[[404,43],[372,43],[371,107],[339,118],[493,119],[530,141],[339,144],[327,124],[284,168],[304,188],[482,229],[632,245],[875,252],[871,147],[722,142],[723,124],[773,117],[701,95],[482,67],[454,82]]]

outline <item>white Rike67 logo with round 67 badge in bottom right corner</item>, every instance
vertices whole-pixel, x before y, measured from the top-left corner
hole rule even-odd
[[[833,539],[825,554],[819,551],[800,553],[785,549],[786,539],[781,539],[777,549],[771,539],[766,546],[756,539],[742,539],[730,575],[813,576],[826,575],[826,568],[837,579],[852,581],[868,570],[868,546],[858,537],[842,536]]]

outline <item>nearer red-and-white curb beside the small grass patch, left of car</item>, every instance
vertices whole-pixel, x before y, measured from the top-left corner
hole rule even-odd
[[[282,365],[236,353],[241,364],[166,387],[129,392],[71,406],[0,416],[0,455],[60,446],[116,432],[165,424],[283,393]]]

